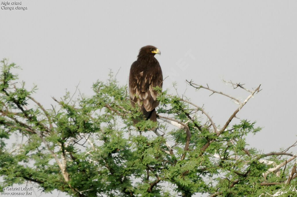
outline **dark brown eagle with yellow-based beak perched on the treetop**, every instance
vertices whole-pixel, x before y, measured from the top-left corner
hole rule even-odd
[[[131,105],[135,104],[141,108],[145,120],[157,121],[155,108],[159,105],[157,101],[158,92],[154,87],[162,88],[163,76],[159,62],[154,57],[161,55],[160,51],[151,45],[142,47],[138,58],[132,63],[129,74],[129,94]]]

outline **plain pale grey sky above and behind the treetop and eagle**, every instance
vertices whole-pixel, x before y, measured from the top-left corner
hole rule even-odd
[[[1,5],[2,6],[2,5]],[[243,99],[221,79],[259,84],[263,90],[238,113],[264,127],[247,142],[264,152],[296,138],[296,1],[22,1],[26,10],[0,9],[0,58],[9,58],[45,107],[65,89],[91,95],[92,83],[109,69],[127,83],[138,50],[154,45],[164,89],[178,91],[223,125],[237,105],[221,95],[198,92],[193,80]],[[173,88],[171,88],[173,92]],[[296,148],[292,151],[296,152]],[[60,194],[61,196],[61,194]]]

